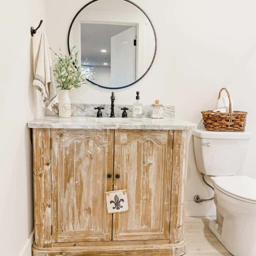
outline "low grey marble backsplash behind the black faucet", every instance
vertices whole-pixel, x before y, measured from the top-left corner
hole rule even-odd
[[[95,107],[104,107],[105,109],[101,110],[103,117],[110,116],[110,104],[101,105],[101,104],[71,104],[71,114],[72,116],[88,116],[88,117],[96,117],[97,111]],[[132,105],[115,105],[115,117],[122,117],[123,110],[122,107],[127,107],[128,117],[132,117]],[[174,106],[164,106],[164,116],[166,118],[175,117],[175,107]],[[59,110],[56,107],[53,107],[52,111],[46,108],[46,116],[58,116]],[[151,106],[143,106],[143,114],[142,117],[150,117],[151,115]]]

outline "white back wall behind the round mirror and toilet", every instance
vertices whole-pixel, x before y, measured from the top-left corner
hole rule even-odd
[[[51,47],[67,50],[67,31],[86,0],[46,0],[47,33]],[[176,117],[198,123],[200,111],[213,109],[221,87],[226,86],[235,110],[249,112],[247,131],[251,144],[245,174],[256,178],[256,2],[254,0],[134,0],[151,18],[157,33],[155,63],[138,84],[116,90],[116,104],[132,104],[136,91],[143,104],[155,99],[176,106]],[[94,85],[72,92],[81,103],[110,103],[110,90]],[[213,202],[196,205],[193,196],[212,195],[196,169],[190,144],[187,215],[214,214]],[[210,209],[210,210],[209,210]]]

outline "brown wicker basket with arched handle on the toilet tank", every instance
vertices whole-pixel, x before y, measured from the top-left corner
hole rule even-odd
[[[227,131],[227,132],[244,132],[246,125],[247,112],[232,112],[231,100],[229,92],[226,88],[222,88],[219,93],[225,90],[229,99],[229,113],[213,112],[212,110],[202,111],[204,127],[208,131]]]

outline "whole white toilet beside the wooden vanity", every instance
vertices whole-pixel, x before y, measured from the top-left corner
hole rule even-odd
[[[256,256],[256,180],[242,176],[250,133],[193,134],[198,169],[214,186],[217,219],[209,229],[234,256]]]

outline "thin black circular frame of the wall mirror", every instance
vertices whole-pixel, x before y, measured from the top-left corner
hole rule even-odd
[[[86,5],[84,5],[84,6],[77,12],[77,14],[75,15],[75,17],[73,18],[73,20],[72,20],[72,22],[71,22],[71,24],[70,24],[70,27],[69,27],[69,29],[68,29],[68,53],[69,53],[69,54],[70,54],[70,46],[69,46],[70,31],[71,31],[72,25],[73,25],[73,23],[74,23],[76,17],[79,15],[79,13],[80,13],[84,8],[86,8],[88,5],[90,5],[90,4],[92,4],[92,3],[96,2],[96,1],[99,1],[99,0],[92,0],[92,1],[90,1],[89,3],[87,3]],[[128,85],[125,85],[125,86],[122,86],[122,87],[106,87],[106,86],[102,86],[102,85],[96,84],[96,83],[94,83],[94,82],[92,82],[91,80],[88,79],[88,81],[89,81],[90,83],[92,83],[92,84],[94,84],[94,85],[97,85],[97,86],[99,86],[99,87],[101,87],[101,88],[105,88],[105,89],[111,89],[111,90],[123,89],[123,88],[129,87],[129,86],[131,86],[131,85],[134,85],[134,84],[138,83],[138,82],[148,73],[148,71],[149,71],[150,68],[152,67],[153,62],[154,62],[155,57],[156,57],[157,38],[156,38],[156,31],[155,31],[155,28],[154,28],[154,25],[153,25],[152,21],[150,20],[150,18],[148,17],[148,15],[147,15],[137,4],[133,3],[133,2],[130,1],[130,0],[123,0],[123,1],[126,1],[126,2],[128,2],[128,3],[131,3],[131,4],[133,4],[134,6],[136,6],[137,8],[139,8],[139,9],[144,13],[144,15],[148,18],[148,20],[149,20],[149,22],[150,22],[150,24],[151,24],[151,26],[152,26],[152,29],[153,29],[153,31],[154,31],[154,36],[155,36],[155,53],[154,53],[154,57],[153,57],[153,59],[152,59],[152,61],[151,61],[151,63],[150,63],[150,66],[148,67],[148,69],[146,70],[146,72],[145,72],[138,80],[136,80],[135,82],[133,82],[133,83],[131,83],[131,84],[128,84]]]

